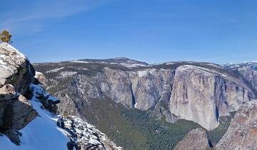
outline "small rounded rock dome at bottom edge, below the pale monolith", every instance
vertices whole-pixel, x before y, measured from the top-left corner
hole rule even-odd
[[[206,150],[210,148],[208,137],[204,129],[198,128],[189,131],[182,141],[178,142],[175,150]]]

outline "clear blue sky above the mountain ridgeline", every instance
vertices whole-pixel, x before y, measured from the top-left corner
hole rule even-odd
[[[257,1],[3,1],[0,29],[31,62],[257,61]]]

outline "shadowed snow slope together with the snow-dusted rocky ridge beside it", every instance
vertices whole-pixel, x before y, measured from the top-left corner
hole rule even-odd
[[[7,136],[0,136],[1,150],[67,150],[67,145],[74,144],[82,149],[122,149],[117,147],[114,142],[97,130],[95,126],[86,123],[76,116],[65,116],[64,127],[58,127],[57,121],[61,116],[51,114],[44,109],[41,104],[41,96],[46,96],[49,99],[56,99],[49,95],[48,92],[35,84],[30,86],[33,94],[30,103],[39,113],[30,124],[21,129],[20,141],[21,144],[16,146]],[[48,101],[46,99],[46,101]],[[73,149],[73,148],[72,148]],[[75,149],[75,148],[74,148]]]

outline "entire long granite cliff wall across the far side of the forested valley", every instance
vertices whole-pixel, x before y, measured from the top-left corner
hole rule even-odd
[[[109,97],[128,108],[151,110],[151,116],[158,119],[162,116],[166,116],[166,121],[187,119],[212,130],[218,126],[220,116],[229,115],[255,97],[241,76],[216,64],[142,65],[122,60],[116,63],[116,59],[114,63],[111,59],[108,62],[87,59],[35,64],[35,67],[46,74],[49,91],[63,99],[59,113],[76,114],[84,119],[86,115],[81,108],[86,103]]]

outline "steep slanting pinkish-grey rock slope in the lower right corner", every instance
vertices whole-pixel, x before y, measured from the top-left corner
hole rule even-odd
[[[248,101],[238,110],[216,149],[257,149],[257,100]]]

